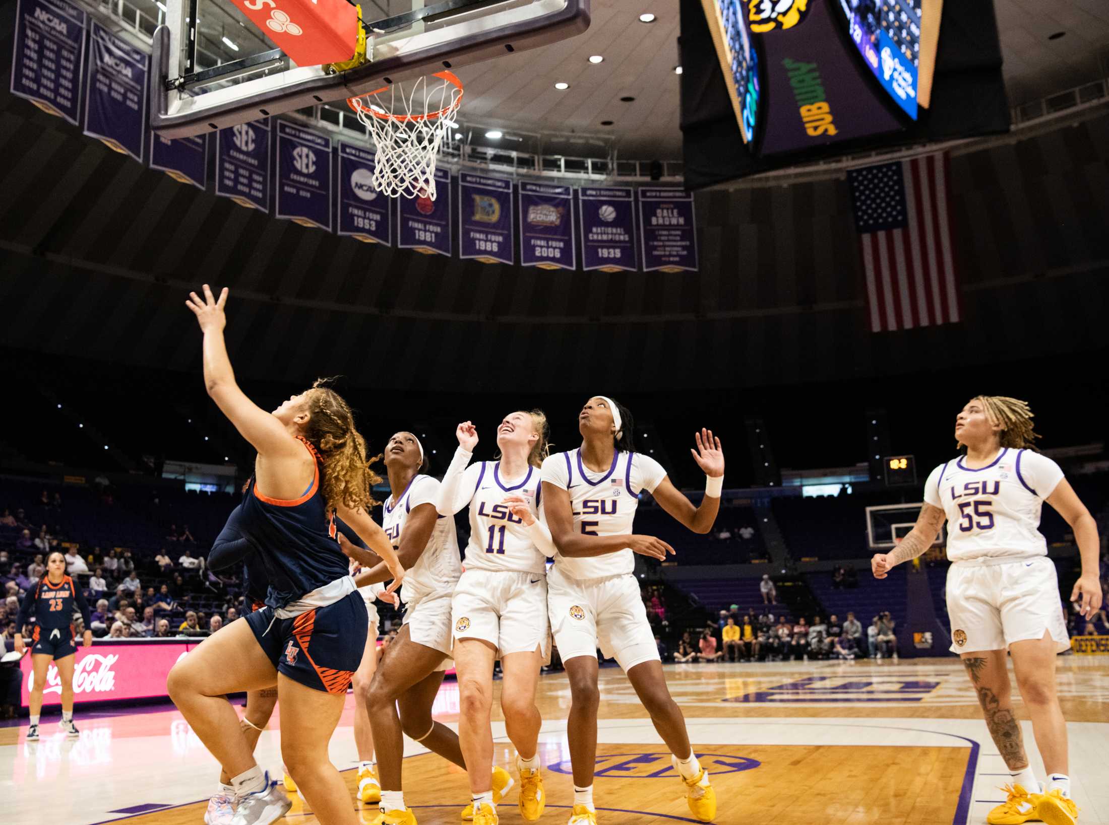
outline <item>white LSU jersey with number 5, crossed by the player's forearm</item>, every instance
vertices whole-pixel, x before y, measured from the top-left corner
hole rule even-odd
[[[612,466],[598,475],[581,462],[581,450],[554,453],[543,462],[542,479],[570,494],[573,528],[590,536],[619,536],[632,532],[632,520],[642,491],[653,493],[667,471],[642,453],[618,452]],[[630,548],[590,558],[567,558],[554,554],[554,564],[563,576],[593,579],[622,576],[635,569]]]

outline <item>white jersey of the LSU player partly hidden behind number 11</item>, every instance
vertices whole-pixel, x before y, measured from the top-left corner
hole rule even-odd
[[[400,536],[408,513],[421,504],[430,504],[434,507],[438,499],[439,482],[429,475],[415,476],[396,502],[389,496],[383,508],[381,527],[394,548],[400,547]],[[461,575],[462,565],[458,555],[455,519],[439,516],[419,560],[405,574],[400,598],[409,602],[430,594],[451,594]]]

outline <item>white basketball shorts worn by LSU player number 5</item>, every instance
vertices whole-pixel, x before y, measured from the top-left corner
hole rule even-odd
[[[562,661],[577,656],[615,657],[628,672],[637,664],[659,659],[654,631],[634,576],[572,579],[558,564],[547,575],[547,610]]]

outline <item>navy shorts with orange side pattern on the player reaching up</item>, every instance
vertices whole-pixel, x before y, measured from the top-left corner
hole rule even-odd
[[[346,693],[350,687],[368,630],[362,594],[348,594],[292,619],[274,619],[273,608],[264,607],[246,622],[278,673],[327,693]]]

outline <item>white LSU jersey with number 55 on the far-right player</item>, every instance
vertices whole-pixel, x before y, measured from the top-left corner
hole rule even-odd
[[[1060,481],[1062,471],[1046,455],[1004,447],[978,470],[965,457],[940,464],[928,476],[924,501],[947,515],[952,561],[1046,556],[1040,508]]]

